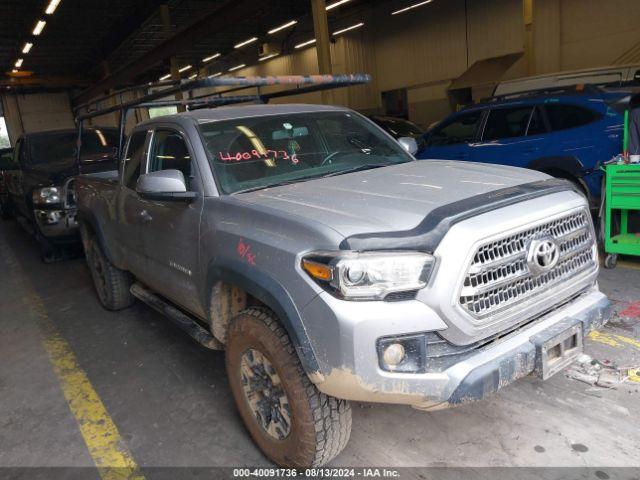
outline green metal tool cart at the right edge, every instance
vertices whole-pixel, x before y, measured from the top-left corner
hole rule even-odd
[[[618,254],[640,256],[640,232],[629,232],[629,212],[640,210],[640,164],[607,165],[604,250],[606,268],[615,268]],[[620,211],[620,233],[611,236],[611,222]]]

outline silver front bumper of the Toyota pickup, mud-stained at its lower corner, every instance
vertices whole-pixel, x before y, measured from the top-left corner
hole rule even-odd
[[[391,312],[395,315],[384,318]],[[403,318],[395,319],[397,312],[402,312]],[[305,328],[314,339],[312,346],[321,365],[322,375],[314,379],[319,390],[347,400],[422,409],[485,398],[534,372],[536,346],[541,342],[573,326],[579,326],[586,336],[602,327],[610,314],[609,300],[593,287],[446,370],[392,373],[379,367],[377,340],[446,328],[429,307],[417,301],[345,302],[322,294],[303,311]],[[315,331],[318,324],[321,329]]]

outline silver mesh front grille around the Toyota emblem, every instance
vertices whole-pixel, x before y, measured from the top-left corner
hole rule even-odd
[[[467,270],[460,306],[476,323],[538,296],[561,282],[597,268],[589,213],[581,210],[481,245]],[[531,242],[552,238],[559,260],[550,270],[534,274],[527,262]]]

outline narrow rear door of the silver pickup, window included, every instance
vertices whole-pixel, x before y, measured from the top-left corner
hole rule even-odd
[[[115,236],[122,258],[129,270],[142,280],[147,279],[146,256],[142,239],[144,205],[136,192],[136,183],[144,166],[150,133],[146,130],[131,134],[122,163],[121,181],[116,201]]]

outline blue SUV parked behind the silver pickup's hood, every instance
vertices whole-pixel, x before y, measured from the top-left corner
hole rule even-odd
[[[425,134],[419,159],[530,168],[576,183],[598,205],[599,164],[622,150],[623,117],[609,104],[623,93],[539,93],[495,99],[454,113]]]

